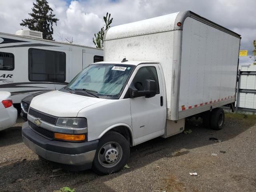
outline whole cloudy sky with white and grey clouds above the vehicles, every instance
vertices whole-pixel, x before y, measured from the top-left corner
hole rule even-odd
[[[15,33],[22,19],[31,12],[33,0],[1,0],[1,32]],[[71,38],[76,44],[94,46],[92,38],[103,26],[103,16],[110,12],[112,26],[152,18],[180,10],[192,10],[242,35],[241,49],[251,54],[256,39],[255,0],[48,0],[56,17],[54,38]],[[4,26],[4,27],[3,27]],[[240,63],[248,64],[242,58]]]

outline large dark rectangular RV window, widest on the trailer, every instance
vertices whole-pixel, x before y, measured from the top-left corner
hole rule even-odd
[[[66,54],[30,48],[28,50],[28,79],[30,81],[64,82],[66,80]]]

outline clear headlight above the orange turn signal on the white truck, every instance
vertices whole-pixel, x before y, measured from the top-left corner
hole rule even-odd
[[[56,126],[68,127],[68,128],[86,128],[86,118],[58,118]]]

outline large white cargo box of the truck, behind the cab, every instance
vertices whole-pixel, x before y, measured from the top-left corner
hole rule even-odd
[[[167,119],[179,120],[235,102],[240,38],[193,12],[177,12],[111,27],[104,61],[159,62]]]

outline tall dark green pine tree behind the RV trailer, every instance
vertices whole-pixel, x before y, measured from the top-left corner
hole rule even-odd
[[[52,25],[56,24],[57,18],[55,14],[52,14],[53,10],[50,8],[46,0],[36,0],[36,3],[33,2],[32,13],[29,15],[31,19],[24,19],[20,23],[21,26],[26,26],[30,30],[40,31],[43,33],[43,38],[48,40],[53,40],[53,28]]]

